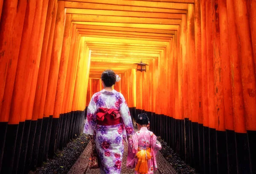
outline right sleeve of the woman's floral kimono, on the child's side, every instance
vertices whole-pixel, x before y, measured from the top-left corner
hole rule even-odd
[[[134,134],[134,128],[131,121],[131,114],[128,105],[126,104],[125,98],[120,94],[120,115],[122,117],[123,123],[125,125],[125,130],[127,136]]]

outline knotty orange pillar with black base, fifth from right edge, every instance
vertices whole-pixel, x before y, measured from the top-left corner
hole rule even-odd
[[[226,148],[226,133],[225,133],[225,117],[224,117],[224,87],[223,87],[223,76],[222,76],[222,60],[221,57],[221,38],[220,38],[220,21],[219,17],[222,15],[223,11],[219,9],[219,0],[214,0],[212,2],[212,47],[213,47],[213,67],[214,67],[214,88],[215,88],[215,128],[216,133],[216,149],[214,147],[213,141],[210,139],[210,151],[215,151],[214,159],[213,154],[210,153],[210,163],[212,161],[216,163],[215,172],[227,173],[225,171],[227,166],[227,148]],[[226,57],[226,56],[225,56]],[[211,130],[209,131],[211,133]],[[211,137],[210,137],[211,138]],[[215,148],[215,147],[214,147]],[[217,159],[215,159],[217,157]],[[212,165],[212,164],[211,164]],[[211,169],[212,170],[212,169]]]

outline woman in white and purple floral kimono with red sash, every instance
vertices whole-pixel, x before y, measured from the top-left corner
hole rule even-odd
[[[112,90],[118,76],[105,70],[101,76],[104,89],[95,93],[87,108],[84,133],[95,141],[101,174],[120,174],[124,152],[123,139],[134,133],[124,96]]]

